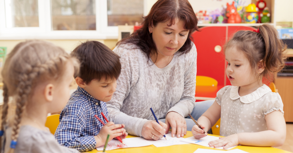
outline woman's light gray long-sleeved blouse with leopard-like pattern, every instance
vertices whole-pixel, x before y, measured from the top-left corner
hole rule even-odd
[[[162,119],[170,111],[186,117],[195,106],[196,48],[174,54],[171,62],[158,68],[136,46],[120,45],[113,51],[121,62],[121,74],[116,92],[107,102],[109,120],[125,124],[128,133],[142,136],[142,127],[148,120]]]

